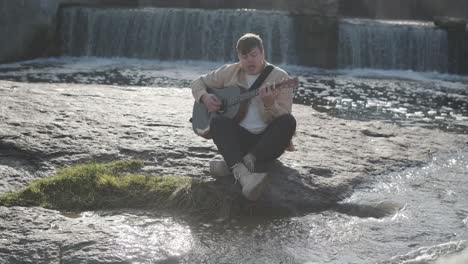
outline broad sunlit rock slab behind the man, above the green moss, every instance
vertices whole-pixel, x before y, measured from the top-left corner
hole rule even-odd
[[[51,175],[54,167],[126,158],[144,160],[150,175],[211,178],[208,161],[217,151],[192,132],[189,89],[1,81],[0,93],[8,117],[0,123],[0,155],[21,161],[5,164],[16,171],[27,165],[32,172],[11,191]],[[297,151],[266,168],[270,185],[261,197],[264,205],[289,211],[326,208],[368,175],[419,164],[462,140],[434,130],[337,119],[301,105],[294,105],[294,115]]]

